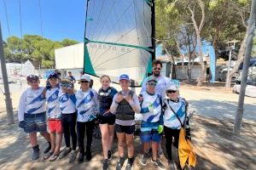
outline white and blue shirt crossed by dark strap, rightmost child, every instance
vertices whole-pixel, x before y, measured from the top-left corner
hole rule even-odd
[[[170,99],[164,99],[163,102],[164,102],[163,107],[165,109],[164,125],[172,129],[180,129],[181,124],[178,121],[177,116],[180,119],[180,121],[183,123],[185,119],[185,111],[186,111],[185,100],[178,97],[177,102],[174,102]],[[170,107],[172,107],[172,110],[176,112],[177,116],[175,116],[175,113],[171,110]]]

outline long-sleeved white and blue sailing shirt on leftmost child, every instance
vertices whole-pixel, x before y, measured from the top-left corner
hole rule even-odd
[[[19,105],[19,121],[24,121],[24,114],[38,114],[46,111],[44,88],[40,87],[36,90],[27,88],[20,97]]]

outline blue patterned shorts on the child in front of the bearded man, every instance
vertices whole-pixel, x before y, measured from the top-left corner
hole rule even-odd
[[[159,125],[159,122],[142,122],[141,140],[143,143],[149,143],[151,140],[160,143],[160,133],[157,131]]]

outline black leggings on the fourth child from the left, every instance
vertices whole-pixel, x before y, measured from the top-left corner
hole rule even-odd
[[[86,137],[87,137],[87,145],[86,151],[90,151],[90,146],[92,142],[92,131],[94,127],[94,121],[90,122],[78,122],[77,124],[77,131],[78,131],[78,138],[79,138],[79,150],[80,153],[84,153],[84,133],[86,127]]]

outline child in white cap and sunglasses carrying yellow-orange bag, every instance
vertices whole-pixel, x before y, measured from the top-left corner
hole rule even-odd
[[[172,144],[178,149],[178,139],[180,128],[186,121],[186,101],[179,96],[178,87],[172,83],[166,90],[168,99],[164,99],[164,131],[166,135],[166,152],[170,167],[174,165],[172,161]],[[174,138],[174,141],[172,140]]]

